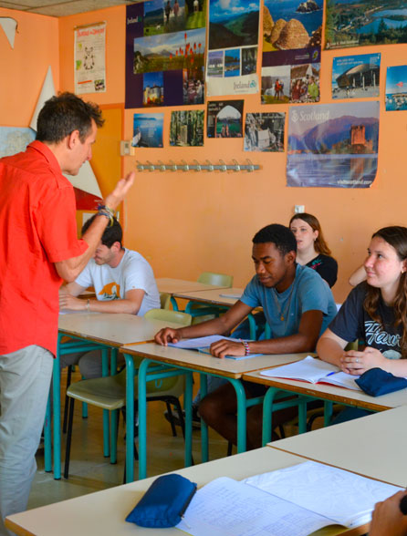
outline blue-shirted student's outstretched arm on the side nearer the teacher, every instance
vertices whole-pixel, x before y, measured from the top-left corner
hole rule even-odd
[[[155,335],[155,342],[166,346],[168,343],[177,343],[184,338],[203,337],[205,335],[228,335],[230,331],[251,313],[253,307],[238,300],[226,313],[214,320],[202,324],[190,325],[178,329],[165,327]],[[243,347],[243,346],[242,346]]]

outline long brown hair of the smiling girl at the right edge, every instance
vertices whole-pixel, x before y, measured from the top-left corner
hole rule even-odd
[[[407,259],[407,227],[393,225],[383,227],[374,232],[371,238],[379,237],[393,247],[400,261]],[[383,325],[383,320],[378,313],[381,289],[368,284],[368,292],[363,302],[363,308],[372,320]],[[397,289],[394,304],[394,326],[402,325],[402,340],[400,347],[402,356],[407,357],[407,273],[400,274],[399,287]]]

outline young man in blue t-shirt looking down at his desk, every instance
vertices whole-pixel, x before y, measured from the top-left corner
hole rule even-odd
[[[161,345],[184,337],[227,335],[257,306],[262,306],[271,338],[262,341],[221,340],[211,346],[216,357],[245,356],[251,353],[290,354],[315,349],[318,335],[336,314],[329,286],[318,273],[296,263],[297,242],[284,225],[267,225],[253,239],[252,258],[256,275],[245,287],[241,299],[224,315],[190,327],[162,329],[155,340]],[[270,357],[272,364],[272,357]],[[245,382],[248,398],[258,397],[266,387]],[[236,443],[235,388],[227,383],[209,393],[199,406],[204,421],[229,441]],[[273,414],[278,426],[297,414],[297,408]],[[262,407],[247,410],[247,448],[261,445]]]

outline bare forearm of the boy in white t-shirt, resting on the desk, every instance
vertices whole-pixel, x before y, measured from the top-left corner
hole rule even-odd
[[[69,283],[76,284],[78,283]],[[79,286],[79,285],[78,285]],[[83,287],[80,287],[83,288]],[[125,294],[123,300],[80,299],[70,294],[59,295],[59,308],[72,311],[92,311],[95,313],[127,313],[138,314],[145,292],[132,289]],[[77,294],[78,295],[78,294]],[[89,302],[89,305],[88,305]]]

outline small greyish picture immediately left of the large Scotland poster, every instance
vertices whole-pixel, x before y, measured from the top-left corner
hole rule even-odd
[[[245,150],[283,152],[285,113],[249,113],[245,116]]]

